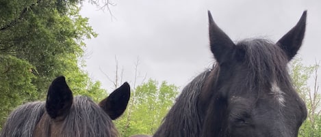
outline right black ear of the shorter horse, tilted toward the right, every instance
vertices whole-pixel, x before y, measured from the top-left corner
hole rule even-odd
[[[118,89],[113,91],[109,97],[99,102],[99,106],[110,116],[112,120],[120,117],[127,108],[131,88],[125,82]]]

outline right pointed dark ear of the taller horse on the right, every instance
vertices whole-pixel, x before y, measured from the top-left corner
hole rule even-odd
[[[303,12],[300,20],[289,32],[287,32],[283,37],[277,42],[282,50],[287,54],[289,61],[298,52],[303,37],[305,36],[305,22],[307,20],[307,11]]]

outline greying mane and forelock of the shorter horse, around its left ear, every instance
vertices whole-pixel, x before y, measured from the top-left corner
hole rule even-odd
[[[0,137],[23,136],[32,137],[38,122],[48,133],[50,119],[44,108],[45,102],[31,102],[20,106],[8,117]],[[62,124],[62,137],[117,137],[118,132],[112,119],[86,96],[76,96],[70,113]]]

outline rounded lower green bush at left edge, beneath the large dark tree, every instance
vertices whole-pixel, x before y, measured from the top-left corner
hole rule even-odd
[[[34,99],[36,87],[31,84],[34,78],[32,65],[12,56],[0,55],[0,61],[0,123],[3,123],[14,106],[23,103],[23,100]]]

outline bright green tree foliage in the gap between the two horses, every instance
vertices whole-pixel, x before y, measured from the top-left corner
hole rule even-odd
[[[121,136],[153,134],[175,101],[177,90],[175,85],[165,81],[159,85],[156,80],[138,86],[132,93],[127,112],[116,121]],[[130,119],[128,115],[131,115]]]

